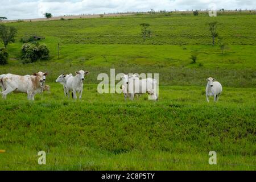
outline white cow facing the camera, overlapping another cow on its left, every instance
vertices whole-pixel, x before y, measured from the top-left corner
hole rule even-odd
[[[67,80],[67,91],[69,97],[69,91],[72,92],[72,98],[77,99],[76,92],[79,93],[79,99],[82,98],[82,82],[84,81],[84,76],[88,75],[88,71],[80,70],[76,72],[76,76],[70,76]]]

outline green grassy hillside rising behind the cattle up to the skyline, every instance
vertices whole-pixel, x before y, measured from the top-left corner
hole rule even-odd
[[[217,20],[217,32],[228,46],[221,54],[218,39],[211,46],[208,22]],[[140,23],[150,23],[151,38],[143,42]],[[202,86],[212,76],[226,86],[256,85],[256,15],[134,15],[119,18],[52,20],[7,23],[18,28],[16,43],[10,44],[10,64],[0,71],[17,74],[49,72],[49,81],[63,72],[90,69],[96,75],[115,68],[118,72],[157,72],[160,84]],[[20,61],[26,35],[45,36],[51,59],[23,65]],[[57,44],[60,43],[60,59]],[[197,54],[196,64],[191,55]],[[56,66],[55,66],[56,65]],[[58,69],[56,69],[58,68]],[[59,69],[60,68],[60,69]],[[230,81],[232,79],[232,81]]]

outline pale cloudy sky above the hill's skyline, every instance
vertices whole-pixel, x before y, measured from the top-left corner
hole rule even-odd
[[[191,10],[191,9],[256,9],[255,0],[0,0],[0,16],[8,19],[102,14],[127,11]]]

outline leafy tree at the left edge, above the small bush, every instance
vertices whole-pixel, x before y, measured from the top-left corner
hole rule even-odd
[[[14,42],[14,37],[17,33],[16,28],[6,27],[3,24],[0,24],[0,39],[2,39],[3,45],[7,48],[9,43]]]

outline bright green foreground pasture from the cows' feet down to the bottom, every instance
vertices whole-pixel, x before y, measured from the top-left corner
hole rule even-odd
[[[125,102],[90,84],[71,101],[50,85],[35,102],[25,94],[0,101],[1,169],[256,169],[255,89],[226,88],[208,104],[203,87],[161,86],[155,103]]]

